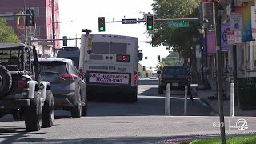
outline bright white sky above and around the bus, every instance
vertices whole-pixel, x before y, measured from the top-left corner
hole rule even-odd
[[[106,23],[106,31],[98,32],[98,17],[105,17],[105,21],[121,21],[125,18],[142,18],[140,12],[153,13],[151,4],[153,0],[60,0],[59,1],[59,22],[62,36],[80,38],[82,29],[92,30],[91,34],[118,34],[138,37],[139,41],[150,41],[146,34],[146,26],[140,24]],[[73,22],[70,22],[73,21]],[[69,44],[68,44],[69,45]],[[71,42],[75,46],[75,41]],[[80,42],[78,41],[78,46]],[[139,42],[139,50],[142,50],[143,57],[155,59],[142,59],[139,63],[142,66],[155,67],[158,65],[157,56],[166,57],[169,52],[166,46],[152,47],[149,43]],[[154,69],[152,69],[154,70]]]

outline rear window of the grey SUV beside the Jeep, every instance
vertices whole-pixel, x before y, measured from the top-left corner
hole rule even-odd
[[[68,74],[65,62],[39,62],[41,73]]]

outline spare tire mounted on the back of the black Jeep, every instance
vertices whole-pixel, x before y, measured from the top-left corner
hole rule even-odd
[[[10,71],[5,66],[0,65],[0,98],[5,96],[12,85]]]

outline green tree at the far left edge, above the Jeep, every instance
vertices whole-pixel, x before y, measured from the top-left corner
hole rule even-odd
[[[7,26],[5,19],[0,18],[0,42],[18,43],[19,39],[11,26]]]

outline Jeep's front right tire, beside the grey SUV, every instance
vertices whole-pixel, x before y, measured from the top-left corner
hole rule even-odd
[[[54,96],[51,90],[46,90],[46,101],[42,106],[42,128],[54,124]]]

